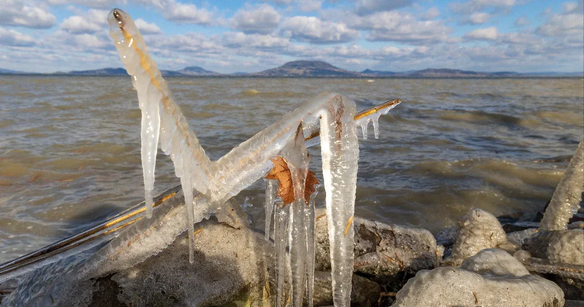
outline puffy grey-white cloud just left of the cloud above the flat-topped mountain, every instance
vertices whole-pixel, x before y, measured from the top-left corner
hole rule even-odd
[[[272,6],[262,5],[251,10],[240,9],[231,18],[231,29],[245,33],[271,33],[280,23],[281,15]]]

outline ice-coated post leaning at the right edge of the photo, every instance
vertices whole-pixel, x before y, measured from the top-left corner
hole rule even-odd
[[[564,230],[582,201],[584,191],[584,138],[580,141],[564,177],[555,188],[541,220],[542,230]]]

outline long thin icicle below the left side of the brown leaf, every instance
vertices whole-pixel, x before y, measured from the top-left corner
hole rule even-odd
[[[286,246],[288,243],[288,220],[290,208],[284,208],[281,201],[276,202],[274,214],[274,243],[276,243],[276,306],[284,306],[284,284],[288,277],[287,265],[290,263]]]

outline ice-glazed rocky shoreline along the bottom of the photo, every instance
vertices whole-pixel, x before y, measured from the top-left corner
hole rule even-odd
[[[314,305],[328,306],[324,209],[317,217]],[[239,218],[239,229],[214,217],[196,225],[194,264],[183,233],[143,263],[99,278],[57,261],[23,279],[2,306],[273,306],[274,243],[240,223],[245,213]],[[584,212],[568,230],[538,231],[540,219],[471,209],[459,227],[433,236],[356,217],[352,305],[582,306]]]

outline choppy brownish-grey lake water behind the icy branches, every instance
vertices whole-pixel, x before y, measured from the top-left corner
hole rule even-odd
[[[401,98],[381,117],[380,138],[360,141],[356,212],[432,231],[471,207],[496,215],[543,208],[584,127],[582,78],[168,81],[212,160],[322,91],[345,92],[357,109]],[[311,154],[317,171],[319,148]],[[180,184],[168,157],[157,162],[158,192]],[[259,181],[238,195],[259,228],[262,188]],[[0,262],[143,195],[129,77],[0,76]]]

